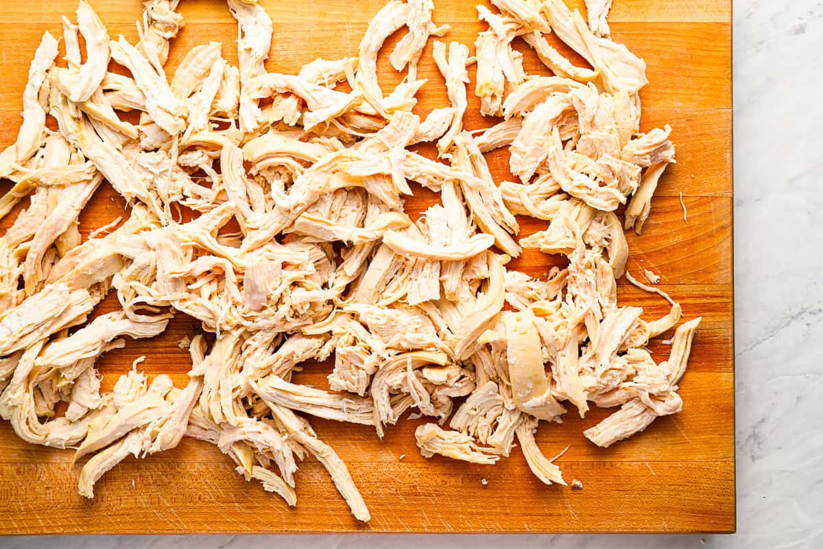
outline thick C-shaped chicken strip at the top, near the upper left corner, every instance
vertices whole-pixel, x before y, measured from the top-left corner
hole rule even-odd
[[[54,85],[76,103],[91,99],[109,68],[109,33],[86,2],[77,6],[77,28],[86,42],[86,63],[58,68]],[[75,59],[77,60],[77,59]]]

